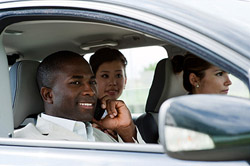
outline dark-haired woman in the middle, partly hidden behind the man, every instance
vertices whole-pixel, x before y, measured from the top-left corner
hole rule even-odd
[[[127,82],[127,60],[124,55],[117,49],[102,48],[90,57],[90,65],[96,77],[98,99],[101,100],[106,97],[117,100],[121,96],[123,89],[125,89]],[[99,116],[104,118],[106,115],[105,112]],[[117,139],[117,134],[114,131],[100,128],[95,123],[93,123],[93,127],[99,128]]]

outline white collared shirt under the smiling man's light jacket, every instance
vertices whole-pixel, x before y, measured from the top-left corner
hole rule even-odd
[[[89,122],[80,122],[70,119],[59,118],[55,116],[46,115],[41,113],[41,117],[47,121],[53,122],[61,127],[64,127],[82,137],[90,142],[95,142],[95,137],[93,135],[93,128]]]

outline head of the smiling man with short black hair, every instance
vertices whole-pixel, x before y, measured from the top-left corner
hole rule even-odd
[[[45,113],[77,121],[91,121],[96,104],[96,81],[79,54],[59,51],[38,67],[37,82]]]

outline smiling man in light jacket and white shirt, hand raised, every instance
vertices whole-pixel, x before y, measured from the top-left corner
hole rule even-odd
[[[16,138],[116,142],[113,137],[93,128],[97,91],[96,80],[88,62],[79,54],[59,51],[39,65],[37,82],[45,112],[37,124],[29,123],[14,132]],[[98,121],[103,128],[114,130],[119,142],[144,143],[126,105],[118,100],[102,100],[109,116]]]

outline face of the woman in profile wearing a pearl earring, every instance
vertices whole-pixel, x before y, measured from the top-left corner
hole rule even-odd
[[[205,70],[205,76],[202,79],[198,79],[197,84],[193,84],[195,87],[194,93],[227,94],[232,82],[230,81],[227,72],[216,66],[212,66]]]

